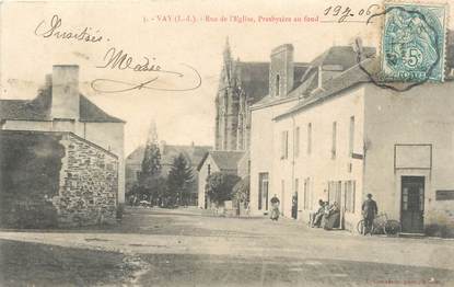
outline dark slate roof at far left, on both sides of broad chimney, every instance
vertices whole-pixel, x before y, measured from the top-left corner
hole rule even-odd
[[[0,119],[51,120],[51,91],[40,91],[33,100],[0,100]],[[83,94],[80,94],[80,122],[125,123],[110,116]]]

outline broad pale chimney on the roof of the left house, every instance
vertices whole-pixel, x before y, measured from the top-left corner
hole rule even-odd
[[[79,119],[79,66],[54,65],[51,117]]]

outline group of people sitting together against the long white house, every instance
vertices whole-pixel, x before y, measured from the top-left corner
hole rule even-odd
[[[337,202],[331,205],[318,199],[318,209],[310,215],[310,226],[331,230],[340,226],[340,208]]]

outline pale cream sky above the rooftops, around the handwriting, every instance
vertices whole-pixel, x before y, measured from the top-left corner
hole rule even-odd
[[[352,11],[380,1],[136,1],[126,2],[11,2],[1,3],[0,76],[2,99],[32,99],[55,64],[80,66],[81,91],[107,113],[127,122],[126,154],[142,144],[152,118],[161,140],[170,144],[213,145],[214,96],[222,65],[222,50],[229,36],[233,56],[244,61],[267,61],[270,50],[292,43],[295,61],[310,61],[333,44],[349,45],[361,36],[364,45],[380,41],[379,25],[364,23],[159,23],[144,22],[156,15],[196,18],[247,15],[319,16],[329,5],[341,4]],[[433,0],[431,1],[433,2]],[[453,9],[451,9],[453,11]],[[44,38],[34,34],[40,21],[58,14],[61,31],[100,30],[95,35],[108,42],[84,43]],[[451,14],[452,15],[452,14]],[[365,16],[356,18],[365,20]],[[451,19],[453,19],[451,16]],[[452,24],[450,25],[453,26]],[[163,67],[185,62],[202,78],[199,89],[190,92],[133,90],[98,94],[90,87],[96,78],[135,82],[137,73],[97,69],[108,48],[124,49],[141,62],[155,57]]]

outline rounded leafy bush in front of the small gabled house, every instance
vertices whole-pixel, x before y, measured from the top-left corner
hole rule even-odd
[[[241,180],[240,176],[222,172],[214,172],[207,179],[206,191],[211,202],[221,205],[225,200],[231,200],[233,186]]]

